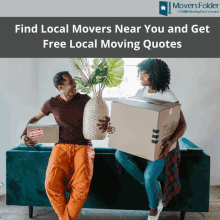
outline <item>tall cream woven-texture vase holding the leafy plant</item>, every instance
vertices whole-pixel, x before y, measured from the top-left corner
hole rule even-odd
[[[109,115],[106,102],[102,99],[102,92],[94,92],[93,97],[86,103],[83,113],[83,135],[89,140],[103,140],[107,131],[102,132],[97,123]]]

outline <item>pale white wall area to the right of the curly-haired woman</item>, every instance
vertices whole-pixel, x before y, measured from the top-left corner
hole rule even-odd
[[[210,155],[211,185],[220,185],[220,59],[163,60],[187,122],[184,136]]]

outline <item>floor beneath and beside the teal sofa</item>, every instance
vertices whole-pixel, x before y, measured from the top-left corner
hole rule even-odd
[[[7,206],[5,195],[0,196],[0,219],[1,220],[27,220],[29,219],[28,207]],[[124,211],[103,209],[82,209],[77,220],[144,220],[149,212],[146,211]],[[58,220],[53,208],[34,207],[33,219]],[[179,213],[162,212],[159,220],[178,220]],[[186,220],[220,220],[220,186],[210,187],[210,211],[186,213]]]

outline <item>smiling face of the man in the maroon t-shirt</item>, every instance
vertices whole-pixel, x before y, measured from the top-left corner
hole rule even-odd
[[[63,85],[60,91],[62,91],[65,95],[74,96],[76,95],[76,82],[69,74],[62,75],[63,79]]]

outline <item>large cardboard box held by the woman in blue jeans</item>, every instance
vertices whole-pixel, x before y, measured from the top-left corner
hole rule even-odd
[[[109,147],[151,161],[158,159],[162,143],[170,138],[179,124],[180,104],[144,97],[113,101]],[[171,150],[176,147],[176,142]]]

